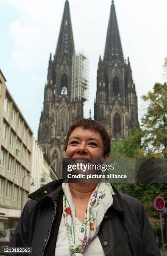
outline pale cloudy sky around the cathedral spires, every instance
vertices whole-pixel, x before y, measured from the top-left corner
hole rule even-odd
[[[103,56],[111,0],[69,0],[76,52],[90,60],[93,111],[99,55]],[[43,105],[50,52],[55,53],[65,0],[0,0],[0,69],[35,138]],[[124,57],[130,57],[138,96],[165,82],[167,0],[115,0]],[[93,113],[92,113],[93,115]]]

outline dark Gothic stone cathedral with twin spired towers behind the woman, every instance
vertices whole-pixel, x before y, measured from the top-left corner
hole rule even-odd
[[[75,96],[72,70],[75,47],[70,18],[69,1],[65,7],[55,55],[50,54],[43,110],[40,116],[38,142],[47,154],[59,177],[62,176],[62,157],[68,127],[84,117],[86,98]],[[137,95],[132,79],[129,58],[125,61],[112,0],[107,29],[105,54],[97,70],[97,92],[94,119],[105,124],[112,140],[130,136],[130,129],[138,122]]]

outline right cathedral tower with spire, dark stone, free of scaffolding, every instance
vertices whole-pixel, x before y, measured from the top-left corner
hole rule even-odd
[[[137,95],[128,60],[124,60],[114,0],[107,28],[104,59],[99,59],[95,120],[105,124],[114,141],[130,136],[138,122]]]

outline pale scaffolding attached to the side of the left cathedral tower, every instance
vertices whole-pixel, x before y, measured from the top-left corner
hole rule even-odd
[[[72,94],[71,100],[88,100],[89,60],[84,54],[72,58]]]

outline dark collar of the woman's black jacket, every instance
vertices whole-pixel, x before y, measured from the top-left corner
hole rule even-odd
[[[62,183],[64,179],[54,180],[52,182],[47,183],[46,185],[40,187],[35,192],[28,195],[28,198],[36,201],[43,200],[44,198],[49,197],[52,201],[56,201],[62,191]],[[125,206],[125,203],[120,195],[120,193],[117,191],[117,189],[112,185],[112,189],[115,192],[115,195],[113,195],[113,204],[112,206],[115,208],[115,210],[119,212],[127,212],[127,208]]]

